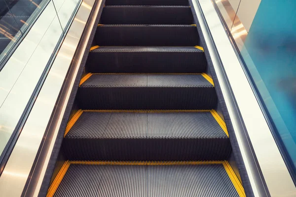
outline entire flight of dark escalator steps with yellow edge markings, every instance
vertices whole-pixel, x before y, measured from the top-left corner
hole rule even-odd
[[[187,0],[106,0],[47,197],[245,197]]]

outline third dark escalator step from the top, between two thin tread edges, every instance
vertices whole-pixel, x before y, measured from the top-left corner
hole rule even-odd
[[[100,25],[99,46],[195,46],[197,29],[190,25]]]

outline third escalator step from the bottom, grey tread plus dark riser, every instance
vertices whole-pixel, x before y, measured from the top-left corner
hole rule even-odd
[[[94,74],[78,89],[82,109],[207,110],[217,95],[205,74]]]

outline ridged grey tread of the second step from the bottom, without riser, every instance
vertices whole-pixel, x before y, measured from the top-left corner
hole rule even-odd
[[[210,111],[84,111],[66,138],[228,138]]]

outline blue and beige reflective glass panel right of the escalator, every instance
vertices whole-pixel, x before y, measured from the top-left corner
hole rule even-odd
[[[296,173],[295,10],[295,0],[241,0],[232,28],[228,29],[294,174]],[[224,18],[225,22],[227,20]]]

